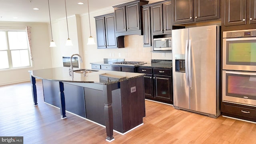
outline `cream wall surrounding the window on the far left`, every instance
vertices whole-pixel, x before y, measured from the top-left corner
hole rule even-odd
[[[33,67],[12,70],[0,70],[0,85],[30,80],[28,70],[37,70],[52,67],[50,52],[49,28],[47,23],[31,22],[0,22],[5,27],[31,27]]]

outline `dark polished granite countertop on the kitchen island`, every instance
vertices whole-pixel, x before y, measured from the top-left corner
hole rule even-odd
[[[69,74],[69,67],[58,67],[58,68],[47,68],[42,70],[31,70],[29,71],[32,76],[45,80],[55,80],[61,82],[80,82],[80,83],[97,83],[97,84],[112,84],[115,82],[120,82],[123,80],[128,80],[130,78],[136,78],[144,76],[145,74],[132,73],[132,72],[118,72],[118,71],[108,71],[108,70],[97,70],[95,72],[83,73],[74,72],[74,78]],[[82,68],[79,68],[82,69]],[[79,70],[74,68],[75,70]],[[90,69],[86,69],[90,70]],[[117,81],[102,82],[100,77],[107,77],[112,79],[118,79]]]

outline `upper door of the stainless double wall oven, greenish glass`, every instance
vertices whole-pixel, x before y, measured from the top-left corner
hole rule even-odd
[[[223,70],[256,71],[256,37],[223,38]]]

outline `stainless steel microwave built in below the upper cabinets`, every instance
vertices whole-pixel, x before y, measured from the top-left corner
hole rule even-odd
[[[154,50],[172,50],[172,38],[154,38]]]

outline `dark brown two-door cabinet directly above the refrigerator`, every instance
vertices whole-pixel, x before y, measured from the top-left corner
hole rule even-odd
[[[173,24],[190,24],[220,18],[220,0],[173,0]]]

